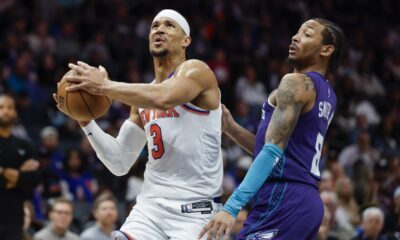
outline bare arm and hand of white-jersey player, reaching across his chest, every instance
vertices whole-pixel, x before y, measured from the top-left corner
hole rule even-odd
[[[168,110],[174,106],[191,102],[210,89],[217,92],[217,81],[211,69],[202,61],[183,62],[174,75],[159,84],[132,84],[111,81],[100,70],[85,63],[70,64],[81,76],[69,76],[66,80],[78,83],[68,91],[84,89],[90,93],[106,95],[130,106]],[[219,98],[218,98],[219,100]],[[214,101],[212,109],[218,107]],[[217,104],[218,103],[218,104]]]

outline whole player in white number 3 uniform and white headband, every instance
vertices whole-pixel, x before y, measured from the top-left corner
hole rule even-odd
[[[186,60],[190,42],[185,18],[163,10],[149,34],[152,84],[115,82],[102,67],[69,65],[81,76],[67,78],[77,83],[68,91],[82,89],[132,106],[117,138],[104,133],[95,121],[80,122],[113,174],[128,173],[147,142],[142,192],[115,239],[196,239],[221,205],[220,91],[204,62]]]

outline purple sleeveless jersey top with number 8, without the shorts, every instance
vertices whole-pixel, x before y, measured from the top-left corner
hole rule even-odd
[[[317,187],[320,180],[320,157],[325,134],[336,109],[336,95],[326,80],[317,72],[307,72],[316,91],[316,100],[311,111],[300,115],[297,125],[285,149],[285,161],[277,164],[268,181],[299,182]],[[268,101],[263,105],[263,114],[256,135],[254,156],[265,144],[265,132],[271,120],[274,106]]]

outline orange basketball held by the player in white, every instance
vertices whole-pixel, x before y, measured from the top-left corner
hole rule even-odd
[[[75,83],[65,80],[65,76],[76,74],[68,71],[58,84],[57,98],[60,108],[78,121],[90,121],[105,114],[111,106],[111,100],[106,96],[90,94],[84,90],[68,92],[66,88]]]

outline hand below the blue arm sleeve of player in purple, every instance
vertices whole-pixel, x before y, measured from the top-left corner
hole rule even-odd
[[[211,220],[200,232],[198,239],[201,239],[207,232],[207,240],[230,239],[231,230],[236,219],[225,211],[221,211],[215,215],[214,219]],[[215,236],[215,238],[214,238]]]

